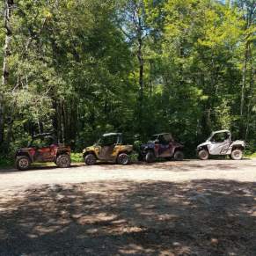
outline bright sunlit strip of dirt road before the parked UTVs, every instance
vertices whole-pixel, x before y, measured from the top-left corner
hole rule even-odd
[[[26,172],[15,169],[0,170],[0,191],[24,189],[50,184],[75,184],[106,180],[172,181],[193,179],[231,179],[256,181],[256,159],[233,160],[187,160],[150,165],[73,165],[69,169],[55,166],[34,168]]]

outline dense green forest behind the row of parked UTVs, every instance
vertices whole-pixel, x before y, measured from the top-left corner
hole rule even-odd
[[[172,132],[187,151],[228,128],[256,150],[254,0],[2,0],[2,160],[53,132]],[[0,160],[1,162],[1,160]]]

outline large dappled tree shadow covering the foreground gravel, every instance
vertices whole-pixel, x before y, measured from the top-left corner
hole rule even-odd
[[[256,255],[254,183],[130,181],[0,198],[0,255]]]

